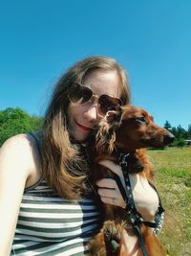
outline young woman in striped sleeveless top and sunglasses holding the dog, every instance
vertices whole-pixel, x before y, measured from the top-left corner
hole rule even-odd
[[[57,82],[42,131],[11,137],[0,150],[0,252],[7,255],[84,255],[100,224],[85,143],[107,110],[130,102],[116,60],[85,58]],[[102,161],[117,175],[119,166]],[[159,199],[147,180],[131,175],[139,213],[152,221]],[[97,182],[105,203],[125,207],[113,179]],[[135,235],[124,231],[132,255]]]

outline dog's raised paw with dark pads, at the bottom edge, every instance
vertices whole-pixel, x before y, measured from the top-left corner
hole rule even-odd
[[[104,241],[108,255],[115,255],[120,248],[120,230],[115,222],[110,221],[104,227]]]

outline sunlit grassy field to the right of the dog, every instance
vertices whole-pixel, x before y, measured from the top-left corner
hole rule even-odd
[[[160,240],[170,256],[191,255],[191,148],[148,151],[166,217]]]

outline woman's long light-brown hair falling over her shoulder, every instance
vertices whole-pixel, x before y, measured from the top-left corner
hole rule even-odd
[[[42,131],[42,176],[63,198],[80,198],[86,191],[89,166],[77,145],[71,141],[67,124],[70,104],[67,91],[74,82],[81,82],[95,71],[117,71],[122,104],[129,104],[130,89],[123,68],[113,58],[92,57],[76,62],[54,87],[53,97],[45,114]]]

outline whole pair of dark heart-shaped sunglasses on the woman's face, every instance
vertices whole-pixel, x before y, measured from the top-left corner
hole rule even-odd
[[[81,85],[78,82],[75,82],[74,86],[68,90],[68,97],[70,102],[75,105],[93,104],[97,98],[98,113],[100,115],[105,115],[109,110],[117,110],[122,105],[120,99],[107,94],[98,96],[94,94],[90,87]]]

